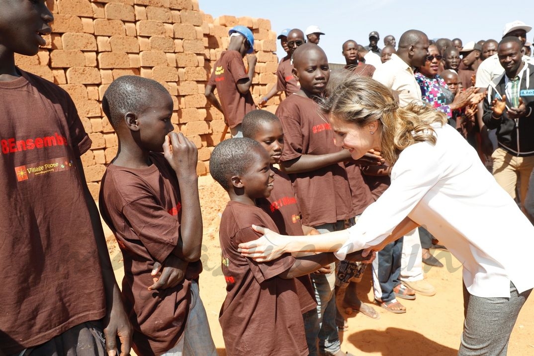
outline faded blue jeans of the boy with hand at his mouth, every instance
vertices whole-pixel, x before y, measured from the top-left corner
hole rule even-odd
[[[199,296],[199,284],[191,282],[191,305],[185,324],[184,333],[178,343],[161,356],[206,355],[217,356],[217,350],[211,338],[206,309]]]

